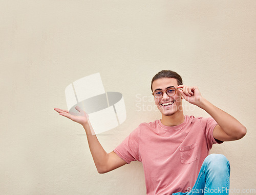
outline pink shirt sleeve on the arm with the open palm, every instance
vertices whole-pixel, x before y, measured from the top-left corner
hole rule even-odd
[[[114,152],[127,164],[139,160],[139,132],[140,127],[136,128],[114,149]]]

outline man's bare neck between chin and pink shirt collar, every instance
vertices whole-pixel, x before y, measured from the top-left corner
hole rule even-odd
[[[183,112],[178,112],[170,116],[162,114],[161,123],[165,126],[177,126],[184,122],[185,116]]]

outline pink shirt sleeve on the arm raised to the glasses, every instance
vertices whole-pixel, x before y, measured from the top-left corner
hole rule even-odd
[[[223,143],[223,141],[217,142],[217,140],[214,138],[214,128],[216,127],[217,122],[214,118],[208,117],[208,118],[202,118],[201,119],[202,127],[205,130],[206,139],[207,139],[207,146],[210,150],[212,145],[215,143]]]

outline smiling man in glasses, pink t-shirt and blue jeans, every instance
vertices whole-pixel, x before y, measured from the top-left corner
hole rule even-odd
[[[246,128],[204,99],[197,87],[183,85],[174,71],[158,72],[151,89],[162,119],[140,124],[109,154],[95,136],[86,112],[77,107],[79,115],[73,116],[55,110],[86,130],[99,173],[138,160],[143,163],[147,194],[228,194],[229,162],[223,155],[209,155],[209,150],[214,143],[241,139]],[[184,116],[182,99],[211,117]]]

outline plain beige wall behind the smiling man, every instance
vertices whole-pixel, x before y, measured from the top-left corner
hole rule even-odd
[[[0,194],[145,194],[139,162],[98,174],[82,127],[53,108],[67,108],[67,85],[100,72],[127,112],[98,136],[111,152],[160,118],[150,82],[162,69],[247,127],[243,139],[211,152],[229,159],[231,188],[255,189],[255,9],[243,0],[1,1]]]

